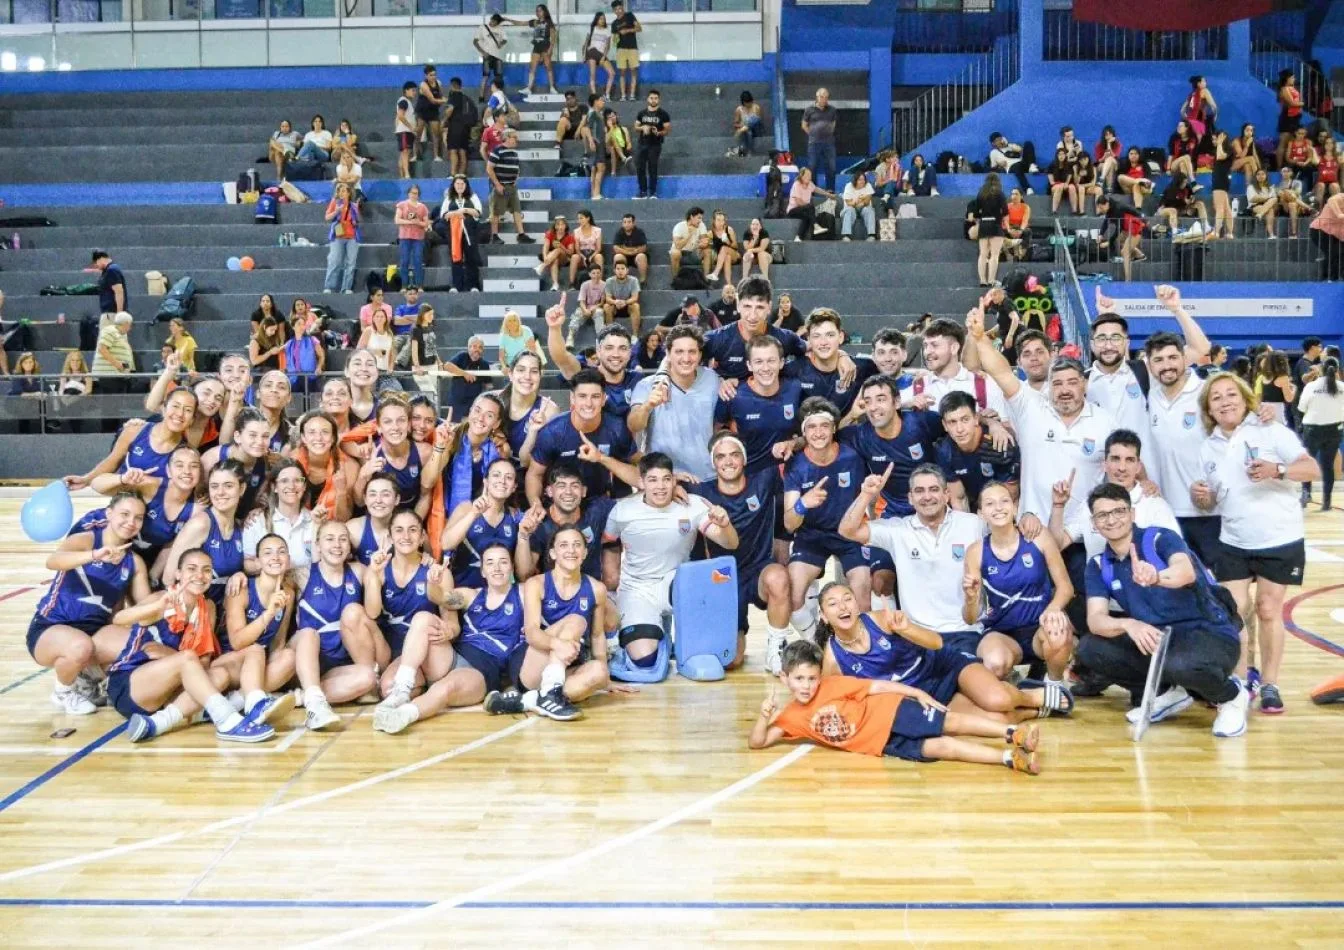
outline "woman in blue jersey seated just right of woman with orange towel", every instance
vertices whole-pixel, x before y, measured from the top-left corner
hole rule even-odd
[[[261,646],[266,650],[265,688],[280,689],[294,679],[289,632],[297,598],[289,580],[289,544],[280,535],[265,535],[257,542],[255,560],[257,576],[230,585],[219,645],[226,656],[253,644]]]

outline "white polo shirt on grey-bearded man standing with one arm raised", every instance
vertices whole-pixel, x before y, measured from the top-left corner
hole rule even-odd
[[[1102,478],[1106,437],[1116,430],[1110,413],[1085,402],[1083,411],[1066,423],[1050,403],[1050,396],[1030,386],[1017,388],[1008,400],[1021,449],[1021,501],[1019,513],[1050,520],[1051,488],[1074,472],[1074,492],[1064,509],[1064,523],[1075,509],[1087,511],[1087,493]]]

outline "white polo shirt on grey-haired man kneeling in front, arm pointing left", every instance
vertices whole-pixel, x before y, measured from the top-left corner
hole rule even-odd
[[[900,578],[900,609],[917,625],[938,633],[980,630],[961,617],[961,575],[966,551],[980,544],[978,515],[948,509],[934,532],[918,515],[868,523],[868,544],[891,555]]]

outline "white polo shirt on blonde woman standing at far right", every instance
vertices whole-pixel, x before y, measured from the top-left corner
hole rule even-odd
[[[1281,422],[1261,422],[1254,413],[1247,413],[1231,435],[1214,429],[1200,446],[1199,458],[1204,481],[1218,494],[1223,544],[1263,551],[1306,536],[1298,482],[1251,481],[1246,473],[1246,465],[1255,458],[1292,465],[1305,454],[1292,429]]]

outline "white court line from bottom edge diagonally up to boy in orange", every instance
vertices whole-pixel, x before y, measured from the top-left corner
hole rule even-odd
[[[699,798],[691,802],[689,805],[684,805],[676,809],[675,812],[669,812],[657,821],[650,821],[646,825],[636,828],[633,832],[626,832],[625,834],[620,834],[614,838],[607,838],[602,844],[587,848],[586,851],[581,851],[577,855],[570,855],[569,857],[560,857],[554,861],[547,861],[546,864],[534,867],[531,871],[524,871],[520,875],[513,875],[512,877],[505,877],[504,880],[495,881],[493,884],[478,887],[474,891],[460,894],[456,898],[449,898],[448,900],[439,900],[437,903],[430,904],[429,907],[418,907],[413,911],[407,911],[406,914],[398,914],[395,916],[387,918],[386,920],[379,920],[378,923],[370,923],[363,927],[355,927],[353,930],[343,931],[340,934],[333,934],[331,937],[323,937],[316,941],[309,941],[308,943],[300,943],[296,947],[296,950],[316,950],[316,947],[329,947],[329,946],[336,946],[339,943],[347,943],[349,941],[358,941],[362,937],[370,937],[372,934],[378,934],[384,930],[390,930],[392,927],[399,927],[406,923],[413,923],[415,920],[433,916],[442,911],[453,910],[454,907],[461,907],[462,904],[474,903],[477,900],[491,900],[492,898],[504,891],[512,891],[516,887],[531,884],[532,881],[540,880],[543,877],[548,880],[555,880],[560,875],[573,871],[577,865],[590,861],[594,857],[602,857],[603,855],[609,855],[613,851],[618,851],[621,848],[625,848],[626,845],[634,844],[636,841],[641,841],[646,837],[657,834],[665,828],[671,828],[672,825],[680,821],[685,821],[687,818],[695,817],[702,812],[708,812],[710,809],[720,805],[722,802],[726,802],[727,800],[734,798],[735,795],[739,795],[747,789],[763,782],[765,779],[774,775],[777,771],[789,767],[790,765],[801,759],[804,755],[810,752],[813,748],[816,748],[816,746],[798,746],[793,751],[781,755],[763,769],[758,769],[746,778],[738,779],[726,789],[719,789],[711,795],[706,795],[704,798]]]

